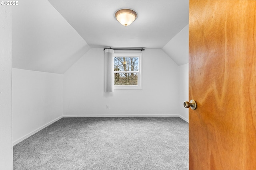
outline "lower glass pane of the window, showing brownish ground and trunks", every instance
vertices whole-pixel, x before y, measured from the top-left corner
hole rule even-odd
[[[137,73],[115,73],[115,85],[138,85]]]

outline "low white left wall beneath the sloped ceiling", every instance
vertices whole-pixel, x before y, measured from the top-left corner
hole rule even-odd
[[[13,144],[26,139],[63,114],[63,74],[13,68]]]

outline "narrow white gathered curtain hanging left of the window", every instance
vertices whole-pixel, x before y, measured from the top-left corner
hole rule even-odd
[[[114,92],[113,49],[105,49],[105,92]]]

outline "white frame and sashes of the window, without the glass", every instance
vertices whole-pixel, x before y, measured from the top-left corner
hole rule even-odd
[[[114,53],[114,57],[138,57],[139,70],[138,71],[114,71],[115,73],[137,73],[138,85],[114,85],[114,90],[142,90],[142,53]],[[114,63],[114,58],[113,58]],[[114,70],[114,64],[113,68]],[[115,80],[113,80],[115,81]]]

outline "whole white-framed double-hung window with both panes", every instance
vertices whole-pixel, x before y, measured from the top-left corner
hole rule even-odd
[[[142,53],[114,53],[114,89],[141,90]]]

